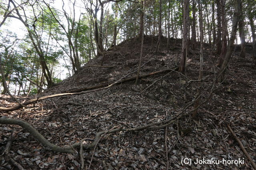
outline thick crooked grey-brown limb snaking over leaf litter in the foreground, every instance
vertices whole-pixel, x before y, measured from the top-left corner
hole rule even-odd
[[[28,131],[34,138],[36,138],[48,150],[51,150],[51,151],[54,151],[54,152],[75,153],[74,148],[79,148],[80,146],[82,146],[83,149],[89,149],[89,148],[95,147],[97,145],[98,141],[100,140],[101,135],[116,133],[116,132],[120,132],[120,131],[140,131],[140,130],[144,130],[144,129],[163,128],[163,127],[166,127],[166,126],[172,124],[177,119],[180,119],[180,117],[182,117],[182,113],[183,112],[179,113],[176,117],[174,117],[172,119],[168,119],[168,120],[160,121],[160,122],[156,122],[156,123],[150,123],[148,125],[144,125],[144,126],[141,126],[141,127],[127,128],[127,129],[123,128],[123,127],[120,127],[120,128],[116,128],[116,129],[111,129],[109,131],[100,131],[96,134],[94,142],[92,142],[88,145],[81,145],[81,143],[74,143],[74,144],[72,144],[68,147],[58,147],[58,146],[50,143],[36,129],[34,129],[34,127],[32,127],[32,125],[30,125],[30,123],[28,123],[24,120],[12,119],[12,118],[8,118],[8,117],[3,116],[3,117],[0,117],[0,124],[20,125],[23,129]],[[152,128],[152,127],[154,127],[154,128]]]

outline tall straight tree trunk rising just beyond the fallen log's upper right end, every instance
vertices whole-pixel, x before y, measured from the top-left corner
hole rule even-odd
[[[182,50],[179,72],[186,73],[186,60],[187,60],[187,44],[188,44],[188,12],[189,0],[184,0],[183,5],[183,35],[182,35]]]

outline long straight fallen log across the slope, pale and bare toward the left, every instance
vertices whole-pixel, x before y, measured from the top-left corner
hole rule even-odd
[[[139,76],[139,78],[154,76],[156,74],[161,74],[161,73],[168,73],[168,72],[171,72],[171,71],[177,70],[177,69],[178,69],[178,67],[176,67],[174,69],[168,68],[168,69],[164,69],[164,70],[158,70],[156,72],[150,72],[148,74],[142,74],[142,75]],[[61,96],[81,95],[81,94],[87,94],[87,93],[91,93],[91,92],[97,92],[97,91],[100,91],[100,90],[110,88],[111,86],[113,86],[115,84],[120,84],[120,83],[123,83],[123,82],[136,80],[136,77],[137,76],[133,76],[133,77],[126,78],[126,79],[123,79],[123,80],[118,80],[118,81],[116,81],[116,82],[114,82],[110,85],[100,84],[100,85],[97,85],[97,86],[92,86],[92,87],[88,87],[88,88],[79,89],[82,92],[61,93],[61,94],[54,94],[54,95],[50,95],[50,96],[43,96],[43,97],[40,97],[40,98],[28,100],[28,101],[22,103],[22,105],[16,105],[16,106],[13,106],[13,107],[0,107],[0,111],[14,111],[14,110],[22,108],[23,106],[27,106],[29,104],[34,104],[38,101],[49,99],[49,98],[55,98],[55,97],[61,97]],[[108,86],[106,86],[106,85],[108,85]],[[94,89],[94,88],[96,88],[96,89]],[[88,90],[88,89],[93,89],[93,90]],[[84,91],[84,90],[88,90],[88,91]]]

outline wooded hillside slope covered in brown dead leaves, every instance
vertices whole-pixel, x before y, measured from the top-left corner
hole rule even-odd
[[[167,48],[166,38],[162,37],[160,52],[154,53],[157,37],[145,36],[140,74],[175,69],[176,55],[178,63],[180,61],[181,41],[171,39]],[[256,69],[251,63],[252,47],[246,46],[245,59],[238,57],[240,49],[237,47],[226,80],[214,85],[218,57],[211,53],[210,45],[204,46],[203,84],[200,88],[202,106],[196,119],[192,119],[191,111],[198,90],[199,47],[189,52],[186,75],[172,70],[143,77],[138,86],[134,85],[134,80],[123,82],[105,90],[42,100],[35,104],[36,107],[1,114],[13,117],[22,114],[23,119],[50,143],[60,147],[80,143],[82,139],[94,139],[96,133],[106,131],[95,148],[83,151],[85,164],[87,167],[90,164],[92,169],[166,169],[167,166],[173,169],[251,169],[228,125],[252,160],[256,160]],[[125,40],[116,49],[106,51],[103,65],[114,67],[93,67],[100,65],[102,60],[102,56],[96,57],[78,74],[30,98],[74,92],[100,84],[108,86],[123,77],[136,76],[140,47],[137,38]],[[2,96],[2,107],[14,104],[10,98]],[[166,119],[175,121],[162,128],[152,126],[146,130],[107,133],[119,127],[136,128]],[[79,153],[47,150],[19,126],[0,127],[0,150],[5,149],[12,127],[21,131],[14,139],[10,154],[25,169],[64,170],[81,166]],[[91,142],[84,140],[84,144]],[[166,152],[170,158],[168,165]],[[181,164],[182,158],[194,161],[196,158],[240,158],[244,164],[188,166]],[[4,158],[0,159],[3,169],[12,168]]]

